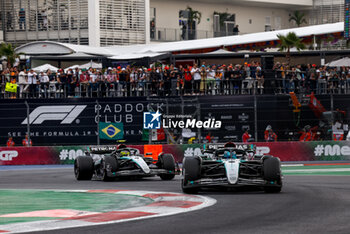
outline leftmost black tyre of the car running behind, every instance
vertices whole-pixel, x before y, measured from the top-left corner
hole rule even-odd
[[[77,180],[91,180],[94,162],[89,156],[78,156],[74,161],[74,174]]]

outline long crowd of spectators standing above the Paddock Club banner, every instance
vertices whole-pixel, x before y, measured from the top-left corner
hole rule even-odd
[[[252,61],[58,71],[14,67],[0,74],[4,98],[350,93],[349,67],[314,64],[288,67],[279,62],[272,71],[264,71],[259,62]],[[17,84],[16,92],[5,91],[6,83]]]

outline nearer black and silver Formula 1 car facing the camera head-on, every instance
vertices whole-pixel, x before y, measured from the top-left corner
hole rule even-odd
[[[183,192],[197,193],[201,187],[213,186],[256,186],[267,193],[278,193],[282,189],[280,160],[256,155],[254,149],[234,143],[209,145],[201,156],[184,157]]]

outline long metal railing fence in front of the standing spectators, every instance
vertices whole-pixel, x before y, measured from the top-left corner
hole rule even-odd
[[[80,84],[19,84],[17,92],[5,91],[0,84],[0,98],[91,98],[91,97],[148,97],[196,95],[264,95],[289,94],[350,94],[350,79],[259,81],[253,78],[231,80],[169,80],[154,82],[99,82]]]

